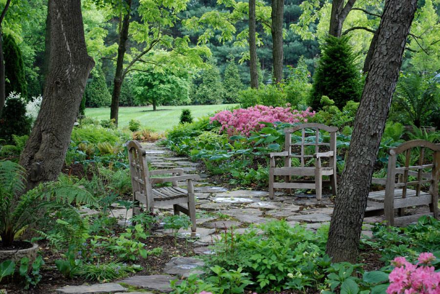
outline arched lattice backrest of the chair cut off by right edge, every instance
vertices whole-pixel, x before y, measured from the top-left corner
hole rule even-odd
[[[410,166],[411,152],[414,152],[415,148],[419,148],[418,165]],[[432,162],[428,164],[424,164],[426,148],[432,150]],[[407,187],[417,186],[416,196],[419,196],[423,184],[430,184],[429,192],[431,195],[439,192],[440,144],[425,140],[412,140],[389,148],[387,152],[389,154],[385,188],[387,192],[394,192],[395,188],[402,188],[402,198],[406,198]],[[401,153],[405,155],[405,163],[403,167],[396,167],[397,156]],[[423,172],[425,168],[431,168],[431,172]],[[396,175],[398,175],[397,183]],[[409,176],[415,176],[416,179],[409,181]]]

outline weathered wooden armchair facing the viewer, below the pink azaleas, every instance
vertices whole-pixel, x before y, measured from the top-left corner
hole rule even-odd
[[[314,129],[314,142],[309,142],[306,138],[306,129]],[[325,130],[330,133],[330,143],[322,143],[320,140],[319,130]],[[269,197],[274,199],[275,188],[287,189],[291,193],[291,189],[315,189],[316,199],[322,198],[322,186],[331,186],[331,192],[336,195],[336,131],[335,126],[326,126],[322,124],[307,123],[284,129],[286,133],[285,149],[283,152],[269,153]],[[301,131],[301,142],[297,140],[292,142],[292,134]],[[315,153],[312,155],[305,154],[306,146],[314,146]],[[319,152],[320,146],[328,146],[330,150],[327,152]],[[293,148],[300,148],[299,154],[292,152]],[[294,151],[294,150],[293,150]],[[284,167],[277,168],[275,166],[275,157],[284,157]],[[322,167],[321,158],[329,158],[329,167]],[[291,158],[299,158],[300,167],[292,167]],[[305,158],[315,158],[314,167],[305,167]],[[284,176],[284,182],[275,182],[275,176]],[[291,176],[314,176],[314,180],[292,181]],[[330,181],[322,181],[322,176],[330,176]]]

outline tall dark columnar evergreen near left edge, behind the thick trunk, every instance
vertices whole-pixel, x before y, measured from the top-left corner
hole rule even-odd
[[[24,78],[24,63],[20,47],[11,35],[3,35],[4,73],[9,83],[5,83],[5,95],[11,92],[27,97],[27,83]]]

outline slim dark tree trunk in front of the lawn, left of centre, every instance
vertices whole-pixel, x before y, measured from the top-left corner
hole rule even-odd
[[[127,13],[122,21],[122,29],[119,30],[118,57],[116,60],[116,71],[113,81],[113,92],[111,93],[110,119],[114,119],[118,125],[119,96],[121,95],[121,86],[124,80],[124,55],[127,50],[128,29],[130,26],[130,12],[132,11],[132,0],[127,0]]]

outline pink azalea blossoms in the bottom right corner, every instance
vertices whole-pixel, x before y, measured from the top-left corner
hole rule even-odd
[[[431,261],[436,260],[432,253],[420,253],[416,265],[406,261],[405,257],[396,257],[393,265],[396,267],[390,273],[388,294],[440,294],[440,273],[430,267]]]

